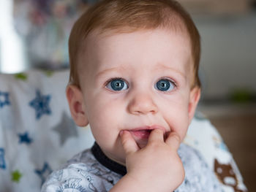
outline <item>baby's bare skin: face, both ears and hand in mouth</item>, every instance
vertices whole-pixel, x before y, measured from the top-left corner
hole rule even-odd
[[[69,85],[67,99],[75,123],[90,124],[102,152],[127,167],[110,191],[174,191],[184,180],[178,147],[200,98],[188,35],[95,31],[85,49],[83,83]]]

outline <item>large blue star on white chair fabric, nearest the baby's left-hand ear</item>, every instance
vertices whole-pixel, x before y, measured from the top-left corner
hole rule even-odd
[[[29,105],[36,110],[36,118],[39,120],[43,114],[50,115],[50,95],[42,96],[40,91],[37,91],[35,99],[29,102]]]

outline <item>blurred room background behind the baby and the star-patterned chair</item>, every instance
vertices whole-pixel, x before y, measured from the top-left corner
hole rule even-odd
[[[74,21],[97,0],[1,0],[0,73],[69,68]],[[256,191],[256,1],[180,0],[202,39],[198,109]]]

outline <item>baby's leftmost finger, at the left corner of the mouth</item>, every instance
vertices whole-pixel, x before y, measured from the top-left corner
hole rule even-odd
[[[121,131],[120,132],[121,144],[124,147],[124,152],[128,155],[129,153],[135,153],[140,148],[138,147],[135,139],[133,139],[132,135],[129,131]]]

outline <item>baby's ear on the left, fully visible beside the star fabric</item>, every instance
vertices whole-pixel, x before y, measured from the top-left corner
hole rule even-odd
[[[66,89],[69,110],[77,126],[87,126],[89,121],[86,117],[83,93],[75,85],[68,85]]]

